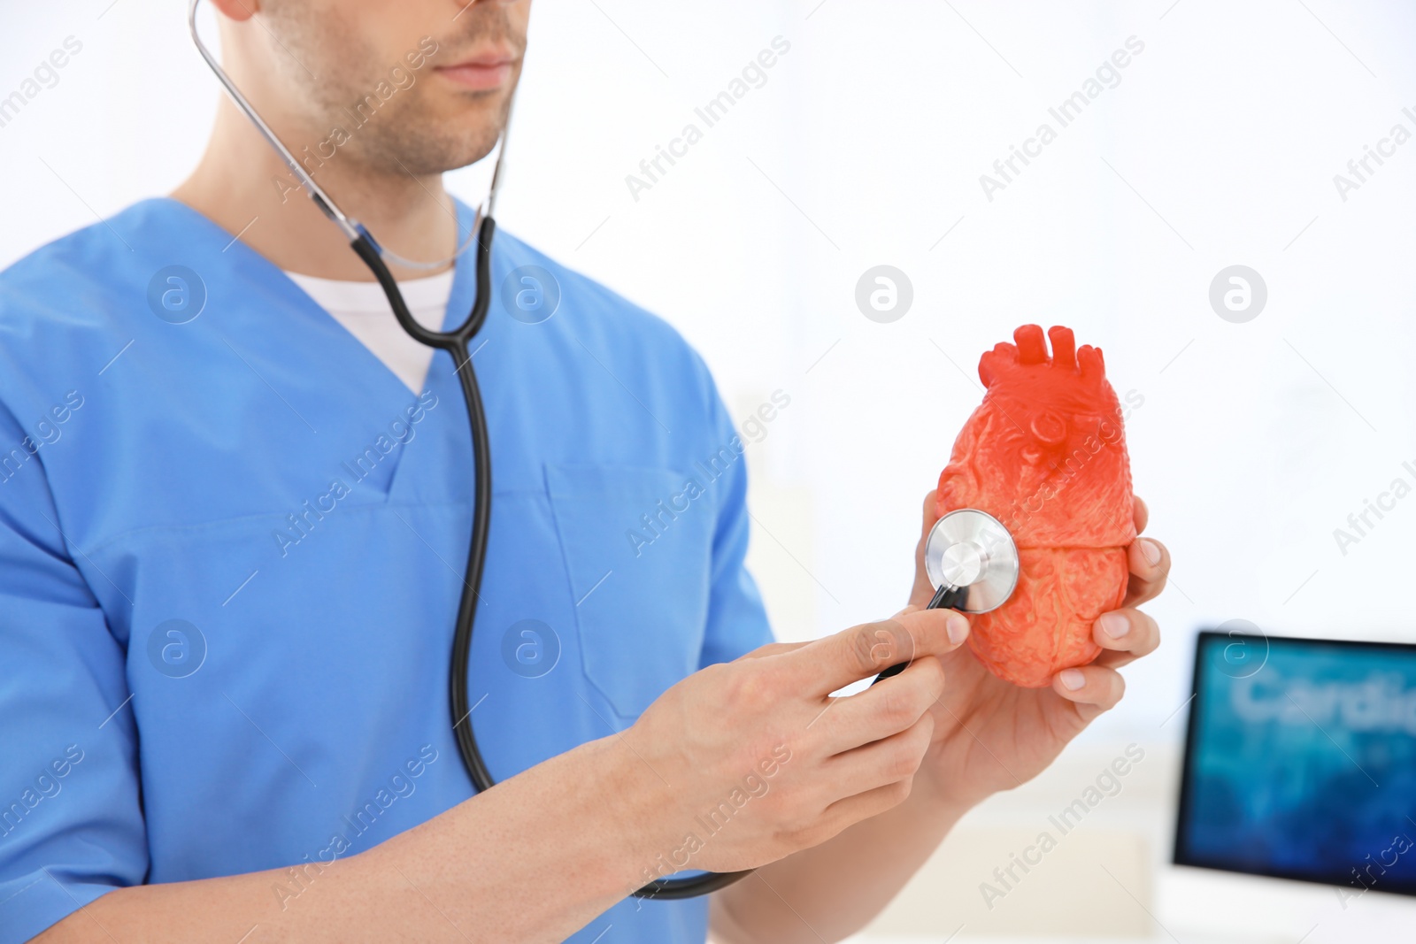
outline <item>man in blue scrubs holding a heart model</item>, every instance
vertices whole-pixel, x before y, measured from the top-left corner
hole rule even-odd
[[[449,256],[470,212],[440,175],[493,149],[530,0],[212,3],[227,69],[321,185],[401,255]],[[416,317],[462,320],[470,258],[395,272]],[[472,497],[452,364],[245,117],[222,102],[171,197],[0,275],[0,941],[840,940],[1155,648],[1148,539],[1106,652],[1052,688],[1000,682],[966,617],[920,610],[918,555],[895,618],[772,644],[741,460],[624,538],[733,439],[702,361],[501,234],[497,290],[528,265],[559,309],[494,301],[476,354],[481,795],[446,708]],[[626,897],[678,868],[758,872]]]

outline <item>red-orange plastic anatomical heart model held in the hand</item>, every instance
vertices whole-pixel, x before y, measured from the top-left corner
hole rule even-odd
[[[936,511],[978,508],[1018,546],[1012,596],[970,617],[969,644],[994,675],[1041,688],[1097,657],[1092,624],[1126,596],[1136,539],[1120,405],[1100,348],[1025,324],[978,359],[987,391],[939,477]]]

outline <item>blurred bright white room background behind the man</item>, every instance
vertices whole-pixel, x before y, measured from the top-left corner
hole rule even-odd
[[[25,100],[0,109],[0,265],[195,164],[218,88],[184,11],[6,8],[0,98]],[[81,52],[31,96],[71,37]],[[780,638],[903,603],[977,358],[1017,326],[1104,348],[1129,403],[1136,490],[1174,555],[1148,607],[1165,644],[861,941],[1409,936],[1410,899],[1168,862],[1197,630],[1412,638],[1416,500],[1361,532],[1348,517],[1416,485],[1413,42],[1416,7],[1395,0],[535,1],[500,222],[673,323],[739,419],[790,398],[748,447]],[[775,64],[745,74],[763,50]],[[695,109],[735,79],[748,91],[705,126]],[[1049,109],[1078,92],[1063,125]],[[701,140],[647,177],[688,123]],[[1044,123],[1027,164],[995,170]],[[450,185],[476,204],[487,171]],[[888,310],[858,304],[877,266]],[[1247,306],[1226,307],[1242,284]],[[1144,759],[1120,791],[986,900],[1129,747]]]

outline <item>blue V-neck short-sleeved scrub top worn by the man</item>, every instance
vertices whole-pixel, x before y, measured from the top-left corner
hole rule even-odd
[[[491,272],[469,701],[501,780],[770,631],[702,359],[504,232]],[[450,323],[474,292],[467,253]],[[177,201],[0,273],[0,941],[120,886],[353,855],[470,797],[446,679],[472,494],[446,354],[415,396]],[[609,924],[602,944],[698,943],[707,906],[629,899],[571,940]]]

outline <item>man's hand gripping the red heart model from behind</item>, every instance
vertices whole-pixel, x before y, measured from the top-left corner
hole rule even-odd
[[[1146,528],[1146,502],[1133,500],[1136,531]],[[933,526],[935,493],[925,497],[925,528],[915,552],[915,586],[905,614],[927,606],[933,586],[925,573],[925,538]],[[967,808],[1000,790],[1011,790],[1041,773],[1097,715],[1121,699],[1126,682],[1116,669],[1160,645],[1155,620],[1136,607],[1154,599],[1170,575],[1170,552],[1158,541],[1138,538],[1127,548],[1130,583],[1121,609],[1092,626],[1102,654],[1090,665],[1069,668],[1051,688],[1020,688],[1004,682],[967,645],[940,661],[944,692],[932,706],[933,737],[920,776],[940,798]],[[896,618],[905,618],[903,616]],[[884,688],[882,682],[878,688]],[[916,784],[916,788],[920,784]]]

